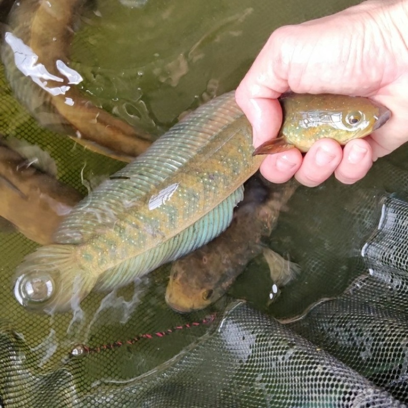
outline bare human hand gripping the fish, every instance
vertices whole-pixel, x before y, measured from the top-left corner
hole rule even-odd
[[[297,149],[266,156],[262,174],[282,183],[293,175],[314,187],[333,172],[351,184],[373,161],[408,140],[408,0],[369,0],[340,13],[274,31],[236,91],[257,147],[276,137],[282,93],[367,96],[386,106],[391,119],[344,149],[321,139],[302,157]]]

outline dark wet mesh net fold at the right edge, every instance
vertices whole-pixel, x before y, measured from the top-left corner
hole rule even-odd
[[[407,402],[408,204],[393,196],[381,201],[378,230],[362,250],[369,273],[290,326]]]

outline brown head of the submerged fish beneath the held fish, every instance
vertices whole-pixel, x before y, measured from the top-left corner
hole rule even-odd
[[[229,285],[219,284],[220,268],[214,265],[217,258],[210,260],[193,252],[173,263],[165,296],[171,309],[179,313],[201,310],[225,294]]]

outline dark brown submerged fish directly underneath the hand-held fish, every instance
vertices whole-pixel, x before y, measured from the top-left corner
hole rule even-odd
[[[231,225],[207,245],[174,262],[166,290],[167,304],[177,312],[203,309],[218,300],[260,253],[270,265],[276,285],[287,283],[293,267],[261,240],[269,237],[281,209],[298,186],[295,182],[273,185],[252,177],[245,184],[242,202],[234,210]],[[289,272],[289,273],[287,273]],[[289,279],[289,278],[288,278]]]

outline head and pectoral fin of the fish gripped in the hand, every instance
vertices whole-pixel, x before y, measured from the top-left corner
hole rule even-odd
[[[254,155],[270,155],[293,147],[308,151],[319,139],[334,139],[341,145],[363,138],[391,117],[391,112],[371,99],[334,94],[294,94],[279,101],[284,121],[275,139],[257,147]]]

